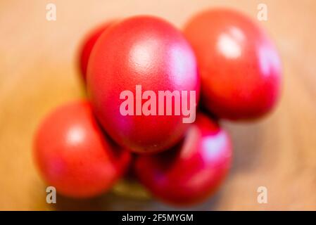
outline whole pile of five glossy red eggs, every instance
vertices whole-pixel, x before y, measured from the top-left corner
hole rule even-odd
[[[182,31],[153,16],[108,22],[91,32],[80,64],[89,101],[54,110],[34,141],[43,178],[72,198],[105,193],[132,170],[166,203],[205,200],[232,161],[229,134],[217,121],[266,115],[282,82],[279,56],[265,31],[224,8],[198,13]],[[125,105],[133,115],[120,111],[129,98],[122,91],[136,96]],[[195,96],[175,95],[173,114],[159,114],[158,105],[148,103],[157,102],[159,91]],[[194,103],[193,123],[175,113],[176,97]]]

